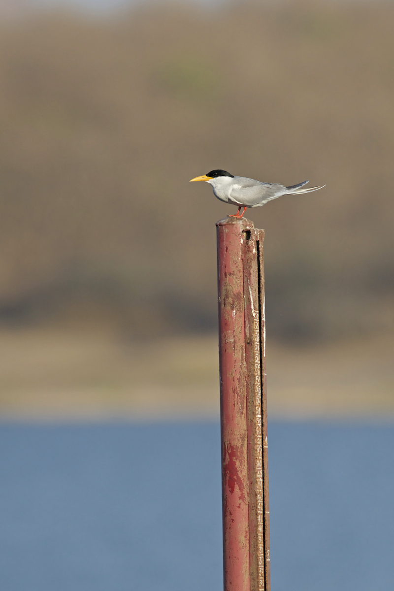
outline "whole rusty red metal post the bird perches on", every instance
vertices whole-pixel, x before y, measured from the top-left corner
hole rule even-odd
[[[216,226],[224,591],[270,591],[264,230]]]

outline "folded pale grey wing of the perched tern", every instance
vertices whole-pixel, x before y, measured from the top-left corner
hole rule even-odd
[[[286,192],[286,187],[278,183],[261,183],[253,178],[234,177],[230,199],[246,207],[257,207]]]

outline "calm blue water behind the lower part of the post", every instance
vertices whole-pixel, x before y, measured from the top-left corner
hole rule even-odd
[[[0,426],[0,589],[222,588],[219,426]],[[269,426],[272,591],[394,589],[394,427]]]

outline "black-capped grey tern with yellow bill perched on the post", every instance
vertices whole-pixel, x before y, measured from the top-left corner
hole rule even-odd
[[[309,181],[291,187],[284,187],[278,183],[261,183],[261,181],[255,181],[253,178],[235,177],[225,170],[211,170],[210,173],[203,174],[201,177],[192,178],[190,183],[194,183],[194,181],[206,181],[211,185],[217,199],[224,201],[224,203],[237,205],[237,213],[230,217],[242,217],[246,207],[261,207],[282,195],[311,193],[311,191],[317,191],[325,187],[323,185],[321,187],[302,189]],[[239,215],[242,207],[243,212]]]

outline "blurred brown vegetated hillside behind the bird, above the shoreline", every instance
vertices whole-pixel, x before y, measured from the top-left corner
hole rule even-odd
[[[224,168],[327,184],[246,213],[269,342],[392,333],[393,24],[392,3],[317,0],[4,20],[2,330],[214,333],[235,209],[188,181]]]

